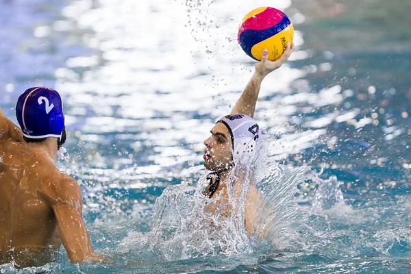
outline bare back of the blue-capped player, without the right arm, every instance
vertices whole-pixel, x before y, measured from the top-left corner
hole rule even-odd
[[[50,260],[61,241],[53,208],[42,193],[62,174],[45,153],[23,141],[18,127],[7,123],[10,132],[0,140],[0,259],[41,260],[41,253]]]

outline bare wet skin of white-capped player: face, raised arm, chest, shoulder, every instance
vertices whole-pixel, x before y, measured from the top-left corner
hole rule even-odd
[[[261,61],[256,64],[256,71],[249,80],[249,83],[245,87],[245,90],[240,95],[240,98],[234,105],[231,114],[246,114],[253,117],[254,111],[256,110],[256,103],[258,95],[260,93],[260,87],[262,80],[269,75],[269,73],[279,69],[282,64],[284,64],[291,53],[295,50],[295,45],[288,44],[286,51],[274,62],[269,61],[268,50],[262,52]],[[232,171],[232,139],[229,135],[229,131],[225,125],[222,123],[216,123],[216,125],[211,130],[211,136],[204,141],[206,145],[206,150],[204,151],[203,159],[204,166],[206,169],[212,172],[220,173],[220,184],[212,196],[214,203],[208,205],[208,210],[216,212],[219,210],[219,214],[223,216],[229,216],[229,212],[232,208],[229,206],[229,195],[227,192],[227,184],[229,182],[229,175]],[[238,180],[234,184],[234,199],[240,197],[241,184],[245,181],[241,174],[238,175]],[[204,192],[208,196],[208,190]],[[258,208],[262,204],[262,195],[254,184],[250,184],[249,191],[247,193],[247,199],[245,201],[245,228],[247,234],[253,232],[253,228],[258,225],[256,221],[256,216],[260,214]]]

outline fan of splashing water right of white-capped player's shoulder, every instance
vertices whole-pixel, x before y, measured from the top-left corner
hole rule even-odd
[[[306,223],[308,213],[297,206],[295,195],[307,168],[288,168],[269,162],[265,170],[266,176],[258,183],[264,201],[257,217],[258,227],[253,233],[253,237],[258,239],[256,245],[260,248],[268,245],[277,249],[297,249],[300,247],[297,232]]]

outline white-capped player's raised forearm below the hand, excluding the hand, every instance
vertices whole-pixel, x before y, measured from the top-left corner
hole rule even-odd
[[[240,99],[238,99],[236,105],[232,110],[232,114],[246,114],[253,117],[256,110],[256,103],[258,94],[260,93],[261,82],[264,79],[264,75],[255,72],[249,83],[242,92]]]

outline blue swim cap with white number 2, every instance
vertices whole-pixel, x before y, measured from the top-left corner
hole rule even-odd
[[[34,87],[18,97],[17,121],[27,138],[61,138],[64,128],[63,101],[51,88]]]

